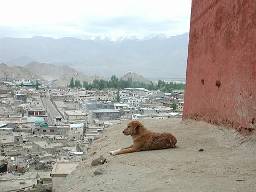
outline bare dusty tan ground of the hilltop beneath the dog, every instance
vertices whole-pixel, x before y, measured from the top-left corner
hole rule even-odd
[[[256,140],[203,122],[181,118],[141,121],[153,131],[172,132],[177,148],[111,156],[129,146],[127,121],[108,127],[77,170],[57,191],[256,191]],[[203,148],[204,151],[198,151]],[[107,163],[91,166],[103,155]],[[101,167],[102,175],[93,171]],[[245,181],[237,181],[238,178]]]

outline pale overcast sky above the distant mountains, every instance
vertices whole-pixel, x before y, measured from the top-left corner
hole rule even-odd
[[[0,7],[0,38],[143,38],[189,32],[191,0],[7,0]]]

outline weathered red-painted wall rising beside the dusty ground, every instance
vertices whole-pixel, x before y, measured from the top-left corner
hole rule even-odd
[[[256,129],[254,0],[192,1],[183,118]]]

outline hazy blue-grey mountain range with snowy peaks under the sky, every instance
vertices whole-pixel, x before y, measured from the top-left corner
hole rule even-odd
[[[169,38],[123,37],[117,41],[73,37],[0,39],[0,61],[7,65],[25,66],[37,61],[66,65],[78,74],[103,77],[121,76],[132,70],[147,78],[184,78],[187,51],[188,33]]]

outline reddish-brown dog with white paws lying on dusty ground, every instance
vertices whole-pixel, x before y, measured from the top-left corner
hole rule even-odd
[[[111,155],[133,153],[141,150],[175,148],[177,139],[171,133],[155,133],[147,130],[139,121],[128,123],[123,133],[132,136],[132,145],[110,151]]]

